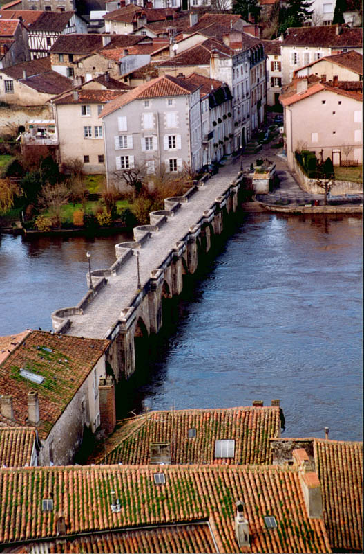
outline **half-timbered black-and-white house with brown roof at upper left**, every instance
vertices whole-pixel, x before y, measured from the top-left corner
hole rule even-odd
[[[41,12],[28,26],[30,57],[46,57],[59,35],[87,33],[87,24],[75,12]]]

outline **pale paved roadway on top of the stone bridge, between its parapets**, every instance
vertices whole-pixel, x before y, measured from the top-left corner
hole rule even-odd
[[[231,180],[237,177],[239,169],[237,163],[220,168],[217,175],[213,175],[205,186],[199,188],[189,202],[182,203],[180,209],[168,217],[166,224],[153,232],[151,238],[140,247],[142,287],[151,278],[151,271],[162,265],[176,242],[186,236],[190,226],[197,224],[204,211],[211,208],[215,204],[215,199],[231,186]],[[117,274],[107,276],[107,280],[107,285],[84,307],[83,314],[67,315],[71,325],[66,334],[95,339],[108,337],[121,310],[130,306],[137,295],[135,256],[128,258]]]

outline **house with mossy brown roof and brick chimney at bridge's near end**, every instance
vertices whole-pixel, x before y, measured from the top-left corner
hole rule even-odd
[[[73,463],[84,427],[115,426],[109,342],[32,331],[0,365],[0,422],[37,429],[40,465]],[[100,381],[101,378],[101,381]]]

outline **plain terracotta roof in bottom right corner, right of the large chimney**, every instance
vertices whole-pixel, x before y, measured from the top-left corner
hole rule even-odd
[[[314,456],[332,548],[363,551],[363,443],[316,439]]]

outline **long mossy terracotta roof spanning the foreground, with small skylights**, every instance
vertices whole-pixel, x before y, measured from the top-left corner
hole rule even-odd
[[[164,485],[153,474],[163,472]],[[120,511],[111,510],[111,490]],[[140,526],[209,521],[220,552],[241,551],[235,537],[235,501],[245,503],[251,552],[330,552],[323,519],[309,518],[295,467],[70,466],[0,470],[0,544],[55,539],[62,512],[66,535]],[[52,512],[42,499],[53,500]],[[268,529],[264,517],[276,518]],[[203,536],[201,537],[203,540]],[[197,552],[211,552],[200,544]],[[159,548],[158,548],[159,547]],[[244,549],[243,549],[244,550]],[[148,545],[142,549],[148,552]],[[171,541],[157,551],[175,552]],[[245,548],[247,551],[247,548]],[[115,550],[114,550],[115,552]]]

